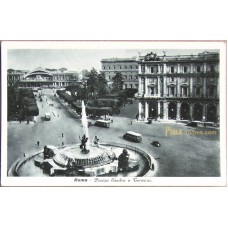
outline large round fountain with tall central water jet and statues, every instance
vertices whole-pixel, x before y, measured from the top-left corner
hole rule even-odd
[[[45,146],[39,153],[17,161],[8,175],[145,176],[155,173],[155,160],[136,147],[117,143],[98,143],[98,138],[90,142],[84,101],[82,101],[81,122],[83,136],[80,138],[80,144],[62,147]]]

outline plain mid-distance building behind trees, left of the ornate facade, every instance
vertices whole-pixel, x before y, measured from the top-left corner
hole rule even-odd
[[[136,58],[102,59],[101,72],[105,73],[109,84],[112,83],[115,74],[120,72],[124,79],[123,89],[138,89],[138,62]]]

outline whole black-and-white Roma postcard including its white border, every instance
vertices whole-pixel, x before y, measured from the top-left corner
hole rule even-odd
[[[225,186],[226,42],[1,42],[2,186]]]

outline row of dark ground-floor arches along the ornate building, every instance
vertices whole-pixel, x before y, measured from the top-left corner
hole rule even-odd
[[[200,103],[194,103],[192,106],[192,111],[190,110],[190,104],[183,102],[180,107],[177,107],[176,102],[170,102],[167,105],[167,110],[164,110],[163,102],[161,102],[160,113],[164,115],[166,111],[168,119],[181,120],[206,120],[209,122],[215,122],[217,120],[217,107],[215,104],[208,104],[206,106],[205,113],[203,112],[203,105]],[[149,117],[155,118],[158,116],[158,102],[149,103]]]

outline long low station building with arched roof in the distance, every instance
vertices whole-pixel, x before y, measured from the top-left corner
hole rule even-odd
[[[16,71],[9,69],[7,72],[8,86],[18,87],[65,87],[78,81],[76,71],[66,68],[47,70],[41,67],[33,71]]]

